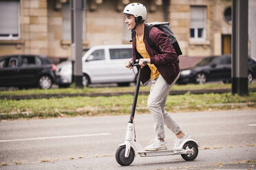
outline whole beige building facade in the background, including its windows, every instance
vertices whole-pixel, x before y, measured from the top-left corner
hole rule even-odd
[[[183,56],[231,53],[231,0],[87,0],[83,47],[129,43],[122,9],[145,4],[147,22],[168,21]],[[0,56],[14,53],[69,58],[69,0],[0,0]]]

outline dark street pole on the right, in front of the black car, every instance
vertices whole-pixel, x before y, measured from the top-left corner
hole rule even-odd
[[[232,94],[248,95],[248,0],[233,0]]]

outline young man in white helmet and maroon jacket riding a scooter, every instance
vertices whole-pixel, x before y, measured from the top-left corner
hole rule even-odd
[[[147,101],[149,111],[153,115],[155,140],[153,143],[145,147],[145,150],[156,151],[167,149],[164,141],[164,124],[167,125],[176,136],[175,147],[173,149],[181,149],[180,145],[183,140],[188,138],[188,134],[184,134],[178,123],[164,110],[165,102],[169,90],[178,80],[180,75],[180,66],[178,55],[169,42],[169,38],[164,32],[156,27],[152,27],[149,31],[149,38],[156,45],[156,49],[151,49],[147,44],[146,36],[147,9],[141,3],[128,4],[123,14],[125,16],[125,24],[132,32],[132,47],[134,57],[132,60],[139,59],[142,68],[141,82],[145,84],[151,80],[151,90]],[[125,62],[125,66],[131,69],[131,62]],[[143,64],[147,62],[147,64]]]

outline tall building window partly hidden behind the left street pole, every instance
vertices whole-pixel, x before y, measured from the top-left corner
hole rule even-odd
[[[83,11],[83,40],[85,40],[85,10]],[[62,39],[71,40],[70,3],[62,3]]]

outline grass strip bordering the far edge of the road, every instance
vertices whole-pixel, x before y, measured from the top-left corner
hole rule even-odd
[[[147,113],[148,95],[139,95],[136,113]],[[63,97],[50,99],[0,100],[0,119],[48,118],[129,114],[133,95],[111,97]],[[248,96],[223,94],[169,95],[168,112],[193,112],[256,108],[256,93]]]

